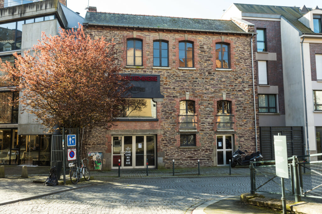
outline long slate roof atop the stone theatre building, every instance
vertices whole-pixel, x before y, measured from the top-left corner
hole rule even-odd
[[[192,19],[89,11],[86,13],[84,23],[137,28],[247,33],[229,20]]]

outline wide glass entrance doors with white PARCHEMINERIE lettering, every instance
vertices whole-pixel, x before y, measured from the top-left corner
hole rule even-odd
[[[148,161],[155,167],[155,135],[122,135],[112,137],[112,168],[145,168]]]

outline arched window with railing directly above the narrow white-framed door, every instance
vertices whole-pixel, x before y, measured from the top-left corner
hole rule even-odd
[[[233,129],[232,102],[217,101],[217,129]]]

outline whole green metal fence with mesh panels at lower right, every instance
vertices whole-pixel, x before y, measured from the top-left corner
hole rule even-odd
[[[322,153],[293,156],[289,160],[289,179],[284,179],[285,194],[300,197],[322,198],[322,160],[299,162],[306,157],[322,156]],[[276,175],[275,161],[251,162],[251,193],[267,192],[282,194],[280,178]]]

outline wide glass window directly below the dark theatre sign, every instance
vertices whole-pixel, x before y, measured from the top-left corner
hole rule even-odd
[[[152,99],[130,99],[128,105],[120,108],[119,118],[156,118],[156,103]]]

